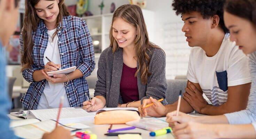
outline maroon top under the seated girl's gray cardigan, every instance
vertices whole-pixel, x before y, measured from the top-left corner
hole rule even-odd
[[[123,64],[120,82],[120,92],[124,103],[139,100],[137,77],[134,77],[137,67],[131,68]]]

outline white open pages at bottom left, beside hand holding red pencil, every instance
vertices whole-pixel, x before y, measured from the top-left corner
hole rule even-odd
[[[34,124],[28,124],[13,128],[15,135],[25,139],[41,139],[44,133],[52,132],[55,129],[56,122],[53,120],[42,121]],[[67,130],[75,130],[67,128]]]

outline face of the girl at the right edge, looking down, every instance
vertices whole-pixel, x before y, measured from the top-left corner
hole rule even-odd
[[[245,18],[232,15],[224,11],[225,26],[230,30],[230,40],[245,54],[256,51],[255,25]]]

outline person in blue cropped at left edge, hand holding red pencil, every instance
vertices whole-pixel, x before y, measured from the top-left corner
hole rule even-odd
[[[19,0],[0,0],[0,134],[1,139],[18,139],[9,128],[11,103],[7,92],[6,47],[10,36],[15,32],[18,22]],[[4,21],[4,22],[3,22]],[[71,139],[70,131],[57,126],[51,133],[44,133],[42,139]]]

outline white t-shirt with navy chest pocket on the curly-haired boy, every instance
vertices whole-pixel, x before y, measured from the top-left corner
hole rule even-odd
[[[227,87],[251,82],[248,57],[226,33],[217,54],[208,57],[200,47],[193,47],[189,56],[187,79],[199,83],[213,106],[227,101]]]

